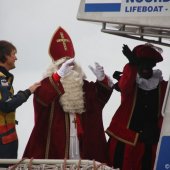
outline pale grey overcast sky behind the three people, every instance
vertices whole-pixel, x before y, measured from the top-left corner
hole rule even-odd
[[[39,81],[51,62],[48,55],[50,39],[62,26],[72,38],[76,61],[83,67],[89,81],[95,76],[88,65],[99,62],[110,77],[115,70],[122,70],[127,59],[122,55],[122,45],[132,49],[144,42],[102,33],[99,24],[78,21],[80,0],[0,0],[0,39],[17,47],[14,89],[24,90]],[[162,47],[164,61],[156,67],[169,79],[170,49]],[[103,111],[105,129],[120,102],[119,93],[113,92]],[[17,109],[18,157],[21,158],[34,124],[32,97]]]

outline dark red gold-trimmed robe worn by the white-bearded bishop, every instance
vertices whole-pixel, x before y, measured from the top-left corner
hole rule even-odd
[[[79,150],[81,159],[106,162],[106,138],[102,110],[112,89],[101,82],[84,80],[86,111],[79,115],[81,126]],[[45,78],[34,95],[35,125],[23,157],[35,159],[69,158],[69,114],[59,104],[64,93],[60,81]]]

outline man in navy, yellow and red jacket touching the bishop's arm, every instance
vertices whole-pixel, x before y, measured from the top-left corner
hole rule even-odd
[[[25,91],[19,91],[14,95],[12,86],[14,76],[9,70],[15,68],[16,52],[13,44],[0,41],[0,159],[17,158],[15,110],[40,86],[40,83],[35,83]]]

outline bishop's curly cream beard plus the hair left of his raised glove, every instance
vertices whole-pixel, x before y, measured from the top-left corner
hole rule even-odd
[[[50,77],[55,73],[59,69],[59,65],[65,60],[63,58],[53,62],[43,74],[43,78]],[[83,79],[86,79],[86,75],[77,63],[74,65],[74,70],[71,70],[67,76],[60,79],[65,91],[60,97],[60,104],[65,112],[82,114],[85,111]]]

